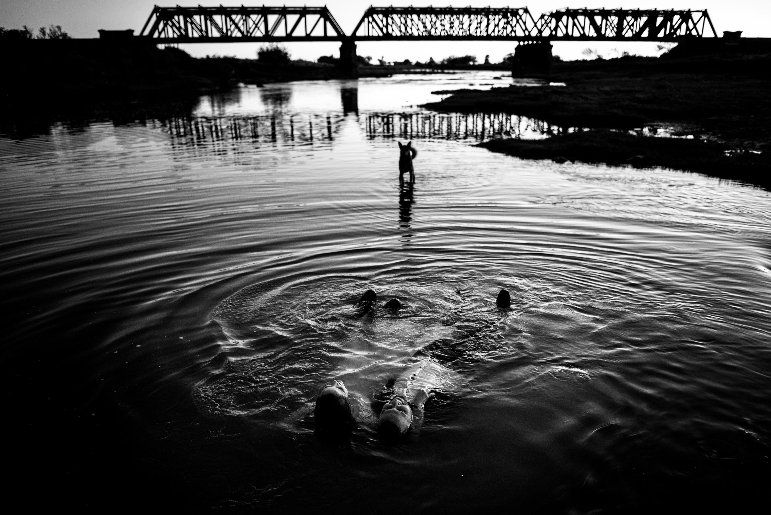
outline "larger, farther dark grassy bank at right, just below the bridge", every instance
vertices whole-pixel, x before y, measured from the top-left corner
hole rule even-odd
[[[631,129],[662,123],[736,148],[764,150],[771,140],[769,70],[769,56],[557,63],[542,77],[565,86],[459,90],[426,107],[503,111],[563,127]]]

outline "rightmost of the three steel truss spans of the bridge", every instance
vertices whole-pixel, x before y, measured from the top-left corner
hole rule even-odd
[[[660,41],[683,37],[701,38],[712,32],[704,11],[659,11],[641,9],[571,9],[540,15],[534,33],[551,41]]]

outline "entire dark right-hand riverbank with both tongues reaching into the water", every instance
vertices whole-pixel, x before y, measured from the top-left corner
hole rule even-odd
[[[564,62],[539,76],[549,86],[436,92],[451,95],[424,107],[505,112],[561,127],[561,136],[547,140],[482,144],[518,157],[672,167],[768,186],[769,70],[764,55]],[[628,133],[645,126],[693,139]]]

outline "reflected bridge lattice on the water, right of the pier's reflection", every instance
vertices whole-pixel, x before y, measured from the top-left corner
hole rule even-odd
[[[365,119],[367,136],[405,140],[534,139],[567,132],[543,120],[506,113],[378,113]]]

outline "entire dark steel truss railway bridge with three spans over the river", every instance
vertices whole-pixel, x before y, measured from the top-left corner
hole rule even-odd
[[[679,42],[717,33],[706,10],[571,9],[537,19],[527,7],[370,7],[350,35],[326,7],[158,7],[140,37],[156,43],[338,41],[341,66],[354,71],[356,42],[552,41]]]

